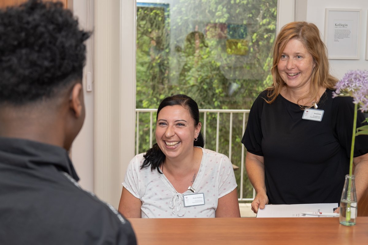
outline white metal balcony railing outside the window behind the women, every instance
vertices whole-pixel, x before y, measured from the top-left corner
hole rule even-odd
[[[143,134],[149,134],[149,138],[148,138],[148,143],[149,143],[149,147],[152,147],[153,144],[153,128],[155,126],[156,123],[154,123],[154,118],[153,116],[156,117],[156,112],[157,109],[135,109],[136,112],[136,139],[135,139],[135,153],[139,154],[141,152],[139,152],[139,146],[140,146],[140,138],[142,138],[142,135],[139,134],[140,131],[143,131]],[[238,188],[240,186],[240,197],[238,197],[239,201],[253,201],[254,197],[255,197],[255,191],[253,189],[253,197],[252,198],[244,198],[243,197],[243,186],[244,186],[244,181],[245,181],[245,177],[244,176],[244,156],[245,156],[245,147],[243,144],[241,144],[241,152],[234,152],[233,153],[233,149],[232,149],[232,145],[233,145],[233,128],[234,127],[241,127],[242,128],[242,134],[241,136],[243,136],[244,131],[245,131],[245,126],[247,123],[247,114],[249,113],[249,110],[228,110],[228,109],[222,109],[222,110],[217,110],[217,109],[199,109],[199,112],[201,113],[201,115],[203,115],[203,119],[201,120],[202,122],[202,134],[204,135],[204,137],[206,138],[206,131],[207,131],[207,117],[210,114],[216,114],[216,147],[215,149],[212,149],[216,152],[221,152],[219,151],[219,141],[220,141],[220,128],[221,130],[223,130],[223,125],[220,125],[220,114],[229,114],[229,118],[230,121],[228,123],[229,128],[227,129],[229,131],[229,138],[228,138],[228,143],[229,143],[229,154],[228,157],[231,161],[231,158],[233,156],[233,154],[241,154],[241,161],[240,161],[240,183],[238,183]],[[141,121],[139,119],[139,116],[141,114],[149,114],[149,123],[148,123],[148,128],[145,128],[145,130],[141,130],[139,128],[139,126],[141,125]],[[236,125],[233,125],[233,115],[234,114],[243,114],[243,120],[241,122],[241,125],[239,125],[239,122]],[[202,117],[201,117],[202,118]],[[148,131],[148,132],[147,132]],[[222,139],[225,140],[225,139]],[[226,139],[227,140],[227,139]],[[206,145],[205,145],[206,147]],[[210,148],[209,148],[210,149]],[[146,150],[146,149],[145,149]],[[223,149],[222,149],[223,150]],[[237,165],[238,166],[238,165]],[[246,177],[247,178],[247,177]],[[247,178],[248,179],[248,178]]]

